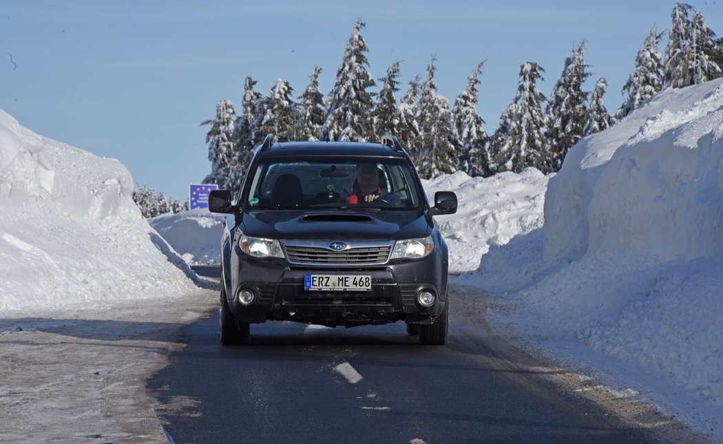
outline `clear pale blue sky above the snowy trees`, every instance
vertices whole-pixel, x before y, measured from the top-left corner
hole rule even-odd
[[[401,61],[404,89],[436,56],[438,92],[453,103],[486,60],[477,108],[492,133],[520,65],[546,69],[539,86],[547,95],[582,40],[593,72],[586,86],[606,77],[604,101],[614,112],[646,33],[668,29],[673,4],[3,0],[0,108],[40,135],[117,158],[135,182],[185,200],[188,184],[210,172],[208,127],[199,124],[215,103],[240,108],[247,74],[261,93],[281,77],[298,96],[315,65],[328,93],[357,18],[367,24],[370,72],[378,79]],[[723,33],[723,1],[693,6]]]

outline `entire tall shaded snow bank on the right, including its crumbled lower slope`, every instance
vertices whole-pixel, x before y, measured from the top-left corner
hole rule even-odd
[[[723,435],[722,270],[723,79],[664,90],[581,140],[549,180],[544,229],[470,279],[506,280],[518,325],[633,364],[651,398]]]

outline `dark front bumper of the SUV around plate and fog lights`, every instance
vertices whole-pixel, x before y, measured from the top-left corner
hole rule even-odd
[[[239,322],[291,320],[322,325],[368,325],[431,323],[446,304],[447,268],[438,252],[419,260],[393,260],[369,267],[304,267],[289,265],[277,258],[259,259],[233,255],[226,284],[228,307]],[[243,258],[241,260],[241,257]],[[233,262],[237,262],[234,264]],[[307,274],[369,275],[372,290],[324,292],[304,289]],[[256,298],[249,305],[239,302],[242,289],[251,289]],[[437,301],[432,307],[416,302],[423,289],[432,290]]]

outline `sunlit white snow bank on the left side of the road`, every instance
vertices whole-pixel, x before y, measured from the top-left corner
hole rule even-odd
[[[192,291],[194,273],[132,190],[118,161],[35,135],[0,110],[0,310]]]

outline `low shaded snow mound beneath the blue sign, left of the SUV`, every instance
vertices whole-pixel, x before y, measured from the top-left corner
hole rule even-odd
[[[149,219],[184,261],[192,265],[221,263],[221,234],[225,215],[205,209],[164,214]]]

